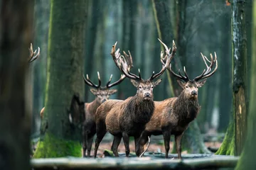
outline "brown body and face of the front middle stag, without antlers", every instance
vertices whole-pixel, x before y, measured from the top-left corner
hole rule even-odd
[[[97,148],[106,132],[114,135],[112,151],[118,157],[117,147],[123,137],[125,152],[129,155],[129,136],[133,136],[135,145],[139,136],[149,122],[154,111],[153,88],[160,84],[161,79],[156,82],[142,80],[136,82],[137,94],[126,100],[108,100],[97,109],[96,112],[96,132],[95,157]],[[144,96],[144,90],[150,91],[150,98]],[[149,93],[149,92],[146,92]]]

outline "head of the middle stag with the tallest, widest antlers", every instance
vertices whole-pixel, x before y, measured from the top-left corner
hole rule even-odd
[[[161,42],[161,40],[159,40]],[[114,63],[117,65],[119,70],[126,76],[128,77],[132,84],[137,88],[137,96],[144,98],[144,100],[153,100],[153,89],[155,86],[159,85],[161,83],[161,79],[158,79],[154,81],[154,79],[157,79],[161,76],[161,74],[164,73],[165,69],[169,67],[169,64],[171,63],[171,59],[174,57],[176,53],[176,45],[173,41],[173,48],[172,52],[170,54],[170,50],[164,42],[161,42],[162,45],[164,45],[165,50],[166,50],[166,56],[164,57],[164,52],[161,52],[161,62],[163,64],[163,67],[160,72],[155,74],[154,72],[152,73],[151,77],[149,79],[142,79],[140,70],[139,70],[139,75],[134,74],[129,71],[129,66],[132,65],[132,62],[127,60],[129,58],[132,58],[131,53],[128,51],[129,55],[127,55],[126,52],[123,52],[124,55],[121,55],[119,53],[119,49],[115,50],[115,47],[117,45],[117,42],[115,42],[114,45],[112,45],[112,51],[111,55],[114,60]]]

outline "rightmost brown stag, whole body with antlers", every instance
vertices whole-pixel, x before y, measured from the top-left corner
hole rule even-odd
[[[206,83],[206,78],[212,76],[218,68],[216,54],[214,60],[210,54],[211,61],[202,53],[201,55],[206,64],[206,69],[203,70],[200,76],[193,80],[188,78],[185,67],[185,76],[183,76],[180,70],[178,70],[178,74],[174,73],[170,65],[169,71],[176,77],[183,91],[181,91],[178,97],[154,102],[155,111],[149,123],[146,124],[146,129],[142,132],[139,154],[142,154],[143,147],[148,141],[148,136],[163,135],[164,147],[166,149],[165,157],[168,158],[170,137],[174,135],[178,159],[181,159],[181,138],[184,131],[188,128],[188,124],[196,118],[201,108],[198,103],[198,88],[203,86]],[[206,60],[210,62],[210,66],[208,66]],[[210,72],[214,65],[215,69],[213,72]]]

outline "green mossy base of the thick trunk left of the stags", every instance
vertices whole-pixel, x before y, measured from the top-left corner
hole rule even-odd
[[[52,134],[46,133],[43,140],[38,142],[38,147],[33,158],[50,157],[82,157],[82,145],[79,141],[63,140]]]

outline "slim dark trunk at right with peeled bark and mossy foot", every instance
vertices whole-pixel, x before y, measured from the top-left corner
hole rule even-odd
[[[245,142],[247,125],[245,1],[233,0],[232,13],[233,119],[231,121],[234,121],[234,126],[230,123],[223,144],[227,143],[225,140],[234,141],[234,143],[222,145],[216,154],[240,155]],[[230,130],[232,127],[235,129]],[[229,132],[234,132],[234,135],[228,134]],[[235,137],[235,140],[230,137]],[[229,149],[234,149],[234,152]]]

